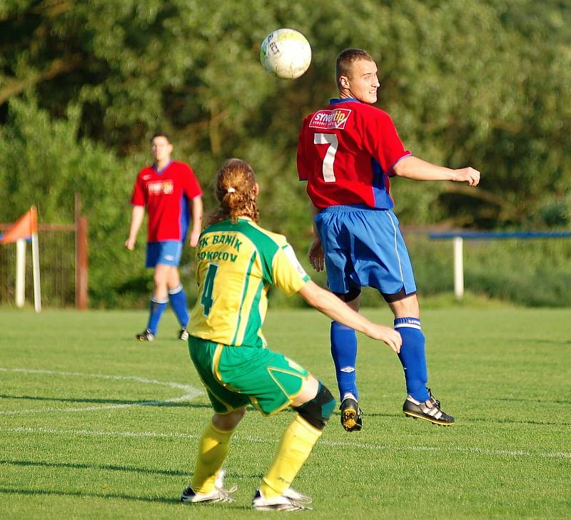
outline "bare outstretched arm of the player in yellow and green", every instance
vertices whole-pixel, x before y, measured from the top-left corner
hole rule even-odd
[[[370,322],[342,302],[333,292],[322,289],[315,282],[308,282],[300,289],[299,294],[309,305],[315,307],[319,312],[323,312],[331,320],[363,332],[373,340],[385,342],[397,354],[400,352],[400,345],[402,345],[403,340],[396,330]]]

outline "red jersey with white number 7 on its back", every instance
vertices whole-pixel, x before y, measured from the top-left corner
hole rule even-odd
[[[365,204],[390,209],[389,177],[405,150],[388,113],[355,98],[332,99],[303,120],[298,174],[316,208]]]

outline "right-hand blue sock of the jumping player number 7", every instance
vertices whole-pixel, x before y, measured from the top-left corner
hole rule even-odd
[[[426,401],[430,397],[426,383],[425,338],[420,328],[420,320],[413,317],[395,319],[395,330],[400,332],[403,345],[400,347],[400,359],[405,371],[406,391],[417,401]]]

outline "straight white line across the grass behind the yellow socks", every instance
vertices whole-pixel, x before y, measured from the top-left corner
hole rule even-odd
[[[161,433],[161,432],[113,432],[106,430],[89,430],[89,429],[55,429],[55,428],[3,428],[0,432],[12,433],[28,433],[28,434],[56,434],[56,435],[78,435],[78,436],[98,436],[98,437],[147,437],[158,439],[198,439],[200,434],[187,433]],[[262,439],[261,437],[253,437],[251,435],[236,435],[237,441],[251,442],[253,444],[276,444],[275,439]],[[410,452],[466,452],[475,455],[492,455],[502,457],[548,457],[553,459],[571,459],[569,452],[528,452],[527,450],[510,450],[510,449],[487,449],[478,447],[446,447],[438,446],[392,446],[390,444],[371,444],[362,442],[343,442],[322,440],[319,446],[328,447],[350,447],[351,449],[371,449],[373,451],[389,451],[403,450]]]

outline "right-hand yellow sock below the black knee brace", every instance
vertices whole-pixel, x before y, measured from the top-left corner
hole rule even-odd
[[[288,489],[321,433],[321,430],[311,426],[300,415],[293,419],[283,433],[270,470],[263,477],[260,486],[263,496],[271,499]]]

